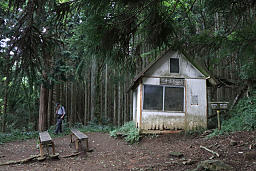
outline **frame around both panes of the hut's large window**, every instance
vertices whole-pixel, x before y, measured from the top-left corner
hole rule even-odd
[[[144,109],[144,98],[145,98],[145,86],[160,86],[162,87],[162,91],[163,91],[163,106],[162,106],[162,110],[153,110],[153,109]],[[183,94],[183,110],[182,111],[176,111],[176,110],[165,110],[164,109],[164,105],[165,105],[165,88],[174,88],[174,87],[178,87],[178,88],[183,88],[184,94]],[[185,103],[186,103],[186,94],[185,94],[185,86],[171,86],[171,85],[153,85],[153,84],[143,84],[143,90],[142,90],[142,111],[158,111],[158,112],[177,112],[177,113],[184,113],[185,112]]]

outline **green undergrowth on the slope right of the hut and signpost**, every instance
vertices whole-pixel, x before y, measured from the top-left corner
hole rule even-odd
[[[230,118],[221,124],[221,130],[215,129],[209,137],[236,131],[252,131],[256,129],[256,92],[254,96],[239,101],[229,112]]]

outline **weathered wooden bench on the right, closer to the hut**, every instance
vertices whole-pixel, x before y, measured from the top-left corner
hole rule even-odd
[[[76,151],[78,152],[79,143],[82,143],[83,141],[85,141],[85,148],[86,148],[85,151],[89,151],[88,137],[84,133],[80,132],[77,129],[72,128],[72,129],[70,129],[70,131],[71,131],[71,134],[70,134],[70,138],[71,138],[70,142],[71,143],[73,142],[72,135],[75,136],[75,148],[76,148]]]

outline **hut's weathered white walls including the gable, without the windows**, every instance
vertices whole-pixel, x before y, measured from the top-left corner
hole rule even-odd
[[[170,58],[180,59],[179,73],[170,73]],[[206,80],[204,75],[181,54],[177,52],[167,53],[151,66],[150,70],[144,73],[141,81],[142,84],[139,84],[135,91],[136,109],[134,110],[134,121],[143,132],[147,132],[147,130],[193,129],[207,126]],[[144,85],[149,85],[148,87],[150,85],[165,87],[163,88],[164,92],[166,87],[184,88],[184,94],[182,93],[184,97],[183,110],[181,108],[177,111],[144,108]],[[169,99],[172,99],[170,97],[171,95],[169,95]],[[175,97],[180,96],[176,94]],[[151,103],[155,100],[154,98],[157,98],[157,95],[149,98],[153,99]],[[174,98],[173,100],[176,99]],[[178,106],[180,105],[181,103],[178,104]]]

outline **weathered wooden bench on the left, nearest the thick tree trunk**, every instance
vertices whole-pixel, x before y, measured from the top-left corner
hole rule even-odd
[[[44,132],[39,132],[39,146],[40,146],[40,156],[41,158],[44,157],[44,152],[43,152],[43,148],[44,146],[47,147],[47,153],[49,154],[49,146],[52,146],[52,154],[53,156],[55,156],[55,146],[54,146],[54,142],[50,136],[50,134],[48,133],[48,131],[44,131]]]

